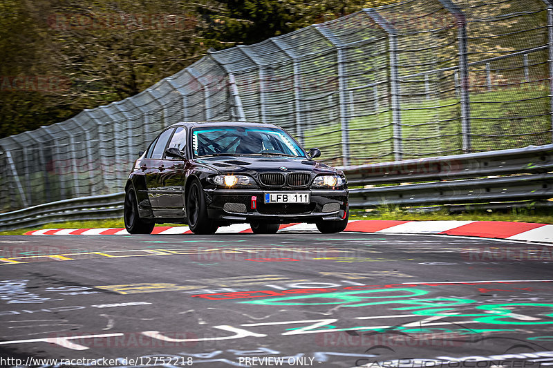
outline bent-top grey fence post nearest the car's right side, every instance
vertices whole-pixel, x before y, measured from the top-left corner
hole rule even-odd
[[[336,49],[337,56],[337,68],[338,68],[338,97],[340,105],[340,124],[341,124],[341,140],[342,140],[342,156],[344,166],[348,166],[350,163],[350,139],[349,139],[349,117],[346,106],[348,101],[346,98],[346,90],[348,89],[348,82],[346,81],[345,61],[344,61],[344,47],[341,45],[341,41],[332,32],[324,26],[313,26],[316,30],[323,35],[325,39],[332,43],[332,46]]]

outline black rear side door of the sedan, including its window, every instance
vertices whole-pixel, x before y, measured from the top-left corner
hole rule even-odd
[[[159,175],[163,171],[163,157],[165,155],[165,148],[169,143],[171,135],[173,135],[175,128],[169,128],[164,130],[158,137],[156,144],[150,153],[150,157],[145,160],[144,174],[146,175],[146,186],[148,190],[148,197],[152,209],[155,211],[158,209],[158,197],[160,195],[159,188]],[[161,170],[160,170],[161,169]],[[154,215],[156,213],[154,212]]]

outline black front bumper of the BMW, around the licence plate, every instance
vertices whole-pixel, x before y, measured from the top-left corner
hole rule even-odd
[[[272,222],[288,224],[290,222],[337,221],[345,217],[348,191],[344,190],[286,190],[290,193],[310,193],[309,204],[265,204],[265,193],[271,190],[261,189],[205,189],[207,213],[209,218],[223,222]],[[276,192],[285,192],[278,190]],[[255,208],[252,208],[255,197]],[[325,204],[335,204],[338,210],[328,211]],[[225,208],[227,204],[227,208]],[[228,204],[232,204],[229,210]],[[236,208],[240,211],[236,211]],[[328,206],[327,206],[328,207]],[[232,211],[234,210],[234,211]]]

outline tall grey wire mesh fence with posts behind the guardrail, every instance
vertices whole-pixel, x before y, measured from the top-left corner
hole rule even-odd
[[[548,0],[364,9],[0,139],[0,211],[117,193],[138,152],[182,121],[277,124],[332,165],[550,144],[552,76]]]

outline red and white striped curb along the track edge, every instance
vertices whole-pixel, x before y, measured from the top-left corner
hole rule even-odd
[[[315,224],[281,225],[279,233],[317,231]],[[440,234],[553,243],[553,225],[501,221],[353,220],[346,231],[386,234]],[[223,226],[217,233],[251,233],[249,224]],[[156,226],[152,234],[188,234],[188,226]],[[129,235],[125,229],[41,229],[25,235]]]

